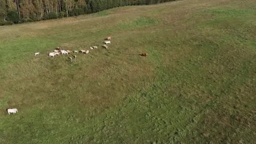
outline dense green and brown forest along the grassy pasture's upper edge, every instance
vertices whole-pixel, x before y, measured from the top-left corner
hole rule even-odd
[[[151,5],[172,0],[0,0],[0,25],[96,13],[128,5]]]

